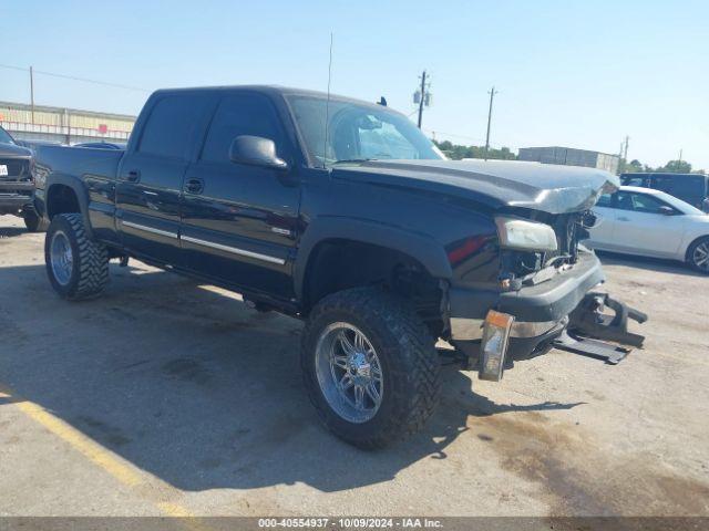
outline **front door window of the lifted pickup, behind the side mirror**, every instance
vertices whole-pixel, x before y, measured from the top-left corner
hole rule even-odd
[[[225,96],[212,119],[202,160],[228,163],[232,142],[240,135],[269,138],[279,150],[282,143],[278,119],[268,100],[256,94]]]

